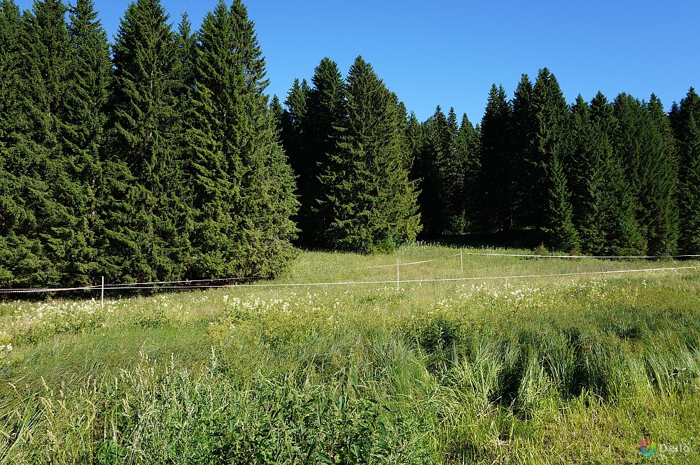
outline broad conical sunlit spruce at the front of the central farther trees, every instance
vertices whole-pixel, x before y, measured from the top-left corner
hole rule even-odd
[[[340,250],[393,250],[420,231],[416,188],[402,166],[395,99],[372,66],[357,57],[346,87],[348,121],[338,152],[321,176],[332,215],[328,245]]]

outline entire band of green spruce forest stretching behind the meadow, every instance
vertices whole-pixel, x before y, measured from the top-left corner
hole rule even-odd
[[[67,14],[66,14],[67,13]],[[390,252],[528,236],[592,255],[700,253],[700,98],[666,112],[548,69],[476,126],[409,113],[371,64],[321,59],[286,99],[239,0],[174,31],[131,3],[0,1],[0,288],[272,278],[294,245]]]

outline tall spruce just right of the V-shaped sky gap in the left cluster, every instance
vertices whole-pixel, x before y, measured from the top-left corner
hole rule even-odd
[[[113,46],[102,265],[114,280],[181,279],[190,255],[182,63],[168,19],[159,0],[131,3]]]

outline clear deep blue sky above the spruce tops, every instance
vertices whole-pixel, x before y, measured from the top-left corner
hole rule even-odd
[[[29,8],[30,0],[15,0]],[[64,0],[68,1],[68,0]],[[698,0],[248,0],[267,61],[269,94],[283,101],[294,78],[310,79],[328,56],[345,74],[357,55],[420,120],[454,106],[472,123],[491,83],[509,98],[547,66],[567,101],[652,92],[671,108],[700,87]],[[126,0],[95,0],[110,38]],[[162,0],[177,23],[198,27],[215,0]]]

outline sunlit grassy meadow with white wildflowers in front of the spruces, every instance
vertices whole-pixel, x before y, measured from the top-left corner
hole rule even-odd
[[[0,465],[700,464],[700,269],[409,282],[698,262],[458,253],[0,302]]]

